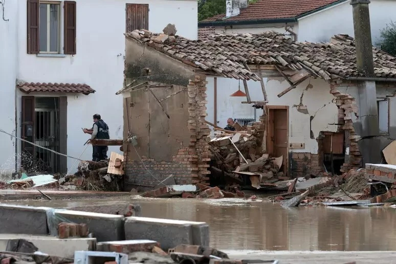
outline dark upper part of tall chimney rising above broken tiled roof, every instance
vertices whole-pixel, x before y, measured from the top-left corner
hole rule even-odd
[[[370,0],[351,0],[353,9],[356,59],[358,72],[365,77],[374,77],[374,63],[372,59],[372,43],[370,28]]]

